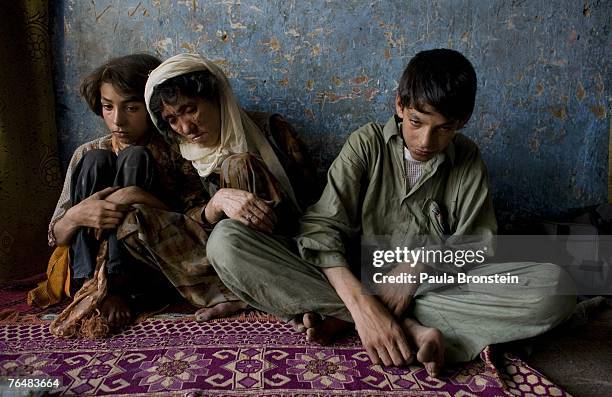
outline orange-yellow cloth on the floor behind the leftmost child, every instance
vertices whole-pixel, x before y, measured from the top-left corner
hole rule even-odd
[[[47,307],[70,296],[69,247],[57,247],[47,265],[47,279],[28,292],[28,305]]]

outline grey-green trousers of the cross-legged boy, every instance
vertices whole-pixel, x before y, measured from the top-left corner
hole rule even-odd
[[[249,305],[288,320],[306,312],[353,322],[320,268],[304,261],[290,239],[223,220],[207,244],[208,259],[221,280]],[[533,337],[565,320],[574,310],[572,281],[546,263],[485,264],[470,275],[518,275],[514,285],[451,285],[417,295],[412,314],[445,337],[449,362],[470,361],[487,345]],[[430,290],[427,285],[423,290]],[[421,288],[419,288],[421,290]],[[417,291],[418,294],[418,291]]]

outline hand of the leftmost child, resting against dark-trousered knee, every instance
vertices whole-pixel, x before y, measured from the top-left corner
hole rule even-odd
[[[105,198],[117,188],[109,187],[92,194],[71,208],[69,213],[72,221],[78,226],[96,229],[115,229],[125,217],[129,206],[111,203]]]

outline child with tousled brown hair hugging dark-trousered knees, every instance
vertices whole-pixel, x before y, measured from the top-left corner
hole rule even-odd
[[[204,200],[200,179],[147,113],[145,83],[160,63],[147,54],[114,58],[81,85],[108,134],[74,152],[49,225],[49,244],[69,250],[76,292],[51,326],[55,335],[118,330],[152,301],[170,300],[172,285],[197,306],[236,300],[201,258],[205,230],[184,215]]]

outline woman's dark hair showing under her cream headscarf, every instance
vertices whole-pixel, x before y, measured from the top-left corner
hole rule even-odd
[[[166,139],[172,141],[174,131],[161,114],[164,104],[175,105],[180,96],[200,97],[205,101],[219,101],[219,83],[209,70],[199,70],[172,77],[153,89],[149,109],[155,115],[157,128]]]

